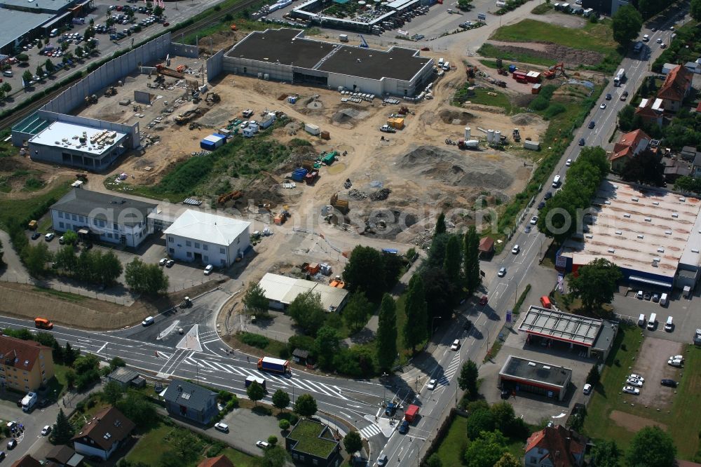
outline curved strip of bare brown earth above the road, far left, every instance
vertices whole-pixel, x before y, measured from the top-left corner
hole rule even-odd
[[[86,330],[114,330],[135,325],[146,316],[182,302],[183,297],[196,297],[217,285],[216,280],[210,280],[165,297],[154,300],[141,298],[132,306],[121,306],[86,297],[67,300],[37,290],[32,285],[0,283],[0,314],[25,319],[50,316],[54,323],[60,325]],[[16,306],[20,303],[22,306]],[[80,320],[76,321],[76,316],[80,316]]]

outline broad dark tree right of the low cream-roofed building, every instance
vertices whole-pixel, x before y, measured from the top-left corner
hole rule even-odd
[[[368,299],[375,301],[385,291],[384,277],[384,260],[379,251],[360,245],[353,248],[343,269],[343,279],[348,283],[348,288],[352,291],[363,290]]]

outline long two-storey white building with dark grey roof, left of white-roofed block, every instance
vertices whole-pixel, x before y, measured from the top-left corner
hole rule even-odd
[[[103,241],[137,248],[154,226],[148,216],[156,205],[131,198],[73,189],[51,206],[53,229],[72,230],[83,241]]]

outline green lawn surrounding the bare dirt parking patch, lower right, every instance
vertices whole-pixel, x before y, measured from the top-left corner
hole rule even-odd
[[[642,405],[625,404],[619,395],[621,381],[625,380],[629,369],[634,366],[641,340],[641,331],[637,327],[622,327],[618,332],[604,373],[601,375],[601,384],[595,388],[587,409],[585,434],[592,438],[615,440],[619,447],[626,449],[634,433],[609,419],[613,410],[619,410],[667,425],[678,449],[679,458],[693,459],[698,449],[698,433],[701,430],[701,419],[697,417],[697,407],[701,407],[701,348],[690,345],[688,351],[684,352],[684,375],[677,389],[678,394],[674,396],[672,409],[657,412],[653,407],[646,409]],[[659,383],[648,381],[646,384]]]

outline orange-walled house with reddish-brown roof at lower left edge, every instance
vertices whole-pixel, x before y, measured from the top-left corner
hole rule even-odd
[[[36,341],[0,335],[0,386],[36,391],[53,378],[52,349]]]

